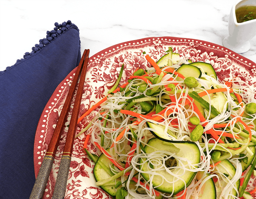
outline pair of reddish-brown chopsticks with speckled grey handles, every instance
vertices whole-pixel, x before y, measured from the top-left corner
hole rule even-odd
[[[44,194],[44,189],[46,187],[46,183],[48,182],[49,175],[52,170],[54,156],[60,142],[60,136],[65,126],[69,108],[70,108],[70,105],[78,84],[78,79],[80,76],[77,93],[76,93],[75,104],[73,107],[73,112],[72,112],[70,124],[68,127],[68,134],[65,141],[63,154],[61,157],[60,167],[59,167],[58,176],[57,176],[52,198],[62,199],[65,196],[67,180],[68,180],[68,171],[70,167],[71,155],[73,151],[73,144],[74,144],[74,139],[76,134],[77,120],[78,120],[78,115],[79,115],[79,110],[81,105],[82,94],[84,90],[84,81],[85,81],[88,60],[89,60],[89,53],[90,53],[89,49],[84,50],[83,56],[77,67],[76,74],[74,76],[74,79],[68,91],[67,98],[65,100],[64,106],[60,113],[60,117],[55,127],[55,130],[52,134],[50,144],[44,156],[43,163],[38,172],[36,182],[34,184],[34,187],[32,189],[29,199],[41,199]]]

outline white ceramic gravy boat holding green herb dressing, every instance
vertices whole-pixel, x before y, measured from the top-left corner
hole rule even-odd
[[[232,6],[228,20],[229,36],[223,40],[223,46],[236,53],[247,52],[251,46],[249,40],[256,35],[256,19],[243,23],[236,21],[236,9],[246,5],[256,6],[256,0],[239,0]]]

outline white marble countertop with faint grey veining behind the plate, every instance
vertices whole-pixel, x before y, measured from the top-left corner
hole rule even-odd
[[[81,51],[154,36],[222,45],[236,0],[0,0],[0,71],[23,58],[54,23],[80,29]],[[256,36],[242,56],[256,62]]]

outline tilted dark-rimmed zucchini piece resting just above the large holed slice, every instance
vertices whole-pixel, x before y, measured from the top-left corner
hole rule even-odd
[[[167,129],[167,133],[165,133],[165,126],[151,122],[147,122],[147,126],[150,128],[150,132],[158,139],[168,142],[173,139],[172,137],[177,138],[176,135],[169,129]]]

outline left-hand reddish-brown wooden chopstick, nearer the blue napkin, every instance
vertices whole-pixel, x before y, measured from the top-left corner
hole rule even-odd
[[[51,141],[49,143],[47,152],[44,156],[43,163],[42,163],[42,165],[40,167],[40,170],[37,174],[37,178],[36,178],[34,187],[31,191],[29,199],[41,199],[43,194],[44,194],[44,189],[46,187],[46,183],[49,179],[49,175],[50,175],[50,172],[52,170],[52,164],[53,164],[53,161],[54,161],[54,156],[55,156],[57,147],[58,147],[59,142],[60,142],[60,136],[61,136],[61,133],[63,131],[64,125],[65,125],[65,122],[66,122],[66,119],[67,119],[67,116],[68,116],[69,108],[70,108],[70,105],[71,105],[71,101],[73,99],[73,95],[74,95],[75,90],[76,90],[77,82],[78,82],[80,73],[81,73],[82,68],[83,68],[86,52],[87,52],[87,50],[84,51],[83,56],[80,60],[80,63],[78,65],[77,69],[76,69],[76,74],[75,74],[74,79],[72,81],[72,84],[69,88],[67,98],[64,102],[63,108],[62,108],[61,113],[60,113],[59,120],[58,120],[58,122],[56,124],[56,127],[55,127],[55,130],[52,134]]]

